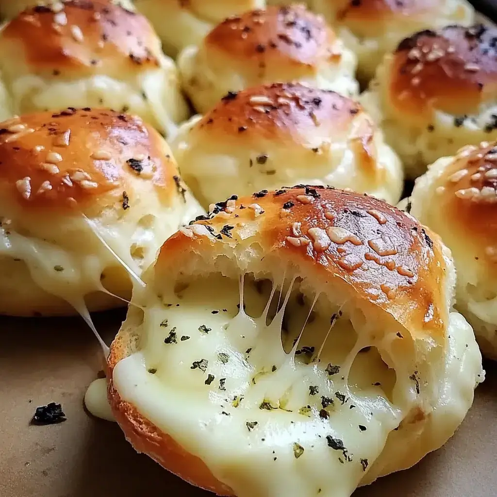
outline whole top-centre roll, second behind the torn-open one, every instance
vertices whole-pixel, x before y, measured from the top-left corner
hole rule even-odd
[[[322,17],[303,5],[230,17],[178,58],[182,85],[198,112],[228,91],[299,81],[355,95],[356,57]]]

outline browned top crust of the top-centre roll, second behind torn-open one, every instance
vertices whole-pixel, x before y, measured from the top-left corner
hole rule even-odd
[[[303,5],[270,6],[226,19],[206,37],[207,50],[229,55],[234,64],[314,67],[339,62],[336,37],[321,16]]]

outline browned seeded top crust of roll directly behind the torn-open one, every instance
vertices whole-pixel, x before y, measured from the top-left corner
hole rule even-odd
[[[360,112],[357,102],[331,90],[272,83],[230,91],[197,126],[243,141],[255,136],[301,143],[309,132],[321,135],[326,129],[331,135],[343,134]],[[372,127],[364,131],[372,136]]]

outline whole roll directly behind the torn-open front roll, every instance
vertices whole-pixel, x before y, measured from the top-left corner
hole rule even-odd
[[[399,158],[362,107],[331,90],[273,83],[230,92],[171,142],[185,182],[207,208],[219,198],[321,184],[397,203]]]

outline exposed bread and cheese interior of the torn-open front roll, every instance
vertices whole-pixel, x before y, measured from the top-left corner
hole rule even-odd
[[[464,319],[445,345],[413,339],[341,280],[257,250],[243,268],[192,255],[135,296],[110,359],[118,419],[138,412],[241,497],[349,496],[442,445],[482,374]]]

